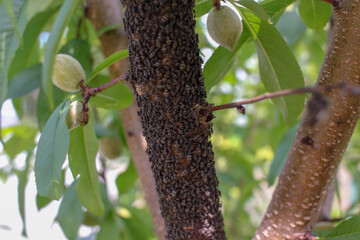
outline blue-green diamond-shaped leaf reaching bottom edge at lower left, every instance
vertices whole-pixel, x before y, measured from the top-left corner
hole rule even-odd
[[[56,221],[60,224],[65,236],[70,240],[77,238],[79,227],[84,218],[82,205],[76,193],[77,183],[78,181],[74,181],[66,189],[56,216]]]

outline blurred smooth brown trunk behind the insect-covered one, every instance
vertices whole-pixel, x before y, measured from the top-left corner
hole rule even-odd
[[[87,17],[96,30],[103,29],[123,21],[122,7],[118,0],[87,0]],[[106,57],[114,52],[128,48],[128,40],[123,28],[108,31],[100,37],[101,47]],[[115,79],[129,71],[128,59],[119,61],[110,67],[111,79]],[[151,171],[148,155],[145,153],[146,142],[142,135],[140,119],[137,115],[136,100],[133,104],[120,110],[122,123],[126,130],[126,140],[137,170],[146,202],[152,217],[155,234],[159,240],[164,240],[165,222],[160,213],[159,197],[155,188],[155,180]]]

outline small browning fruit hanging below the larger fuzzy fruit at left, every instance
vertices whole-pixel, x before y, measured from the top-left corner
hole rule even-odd
[[[75,101],[70,104],[69,111],[66,115],[66,124],[69,131],[87,124],[89,116],[87,112],[83,111],[83,105],[82,101]]]

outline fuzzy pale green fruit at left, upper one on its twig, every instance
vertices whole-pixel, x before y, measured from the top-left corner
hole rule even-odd
[[[80,82],[85,80],[84,69],[75,58],[66,54],[56,55],[52,73],[55,86],[67,92],[77,92]]]

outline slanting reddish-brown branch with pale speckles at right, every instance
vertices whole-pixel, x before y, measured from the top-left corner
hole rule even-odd
[[[317,85],[360,86],[360,0],[334,3],[334,34]],[[328,118],[311,126],[313,116],[305,112],[257,240],[313,239],[310,233],[360,114],[359,97],[342,90],[325,96],[331,102]]]

